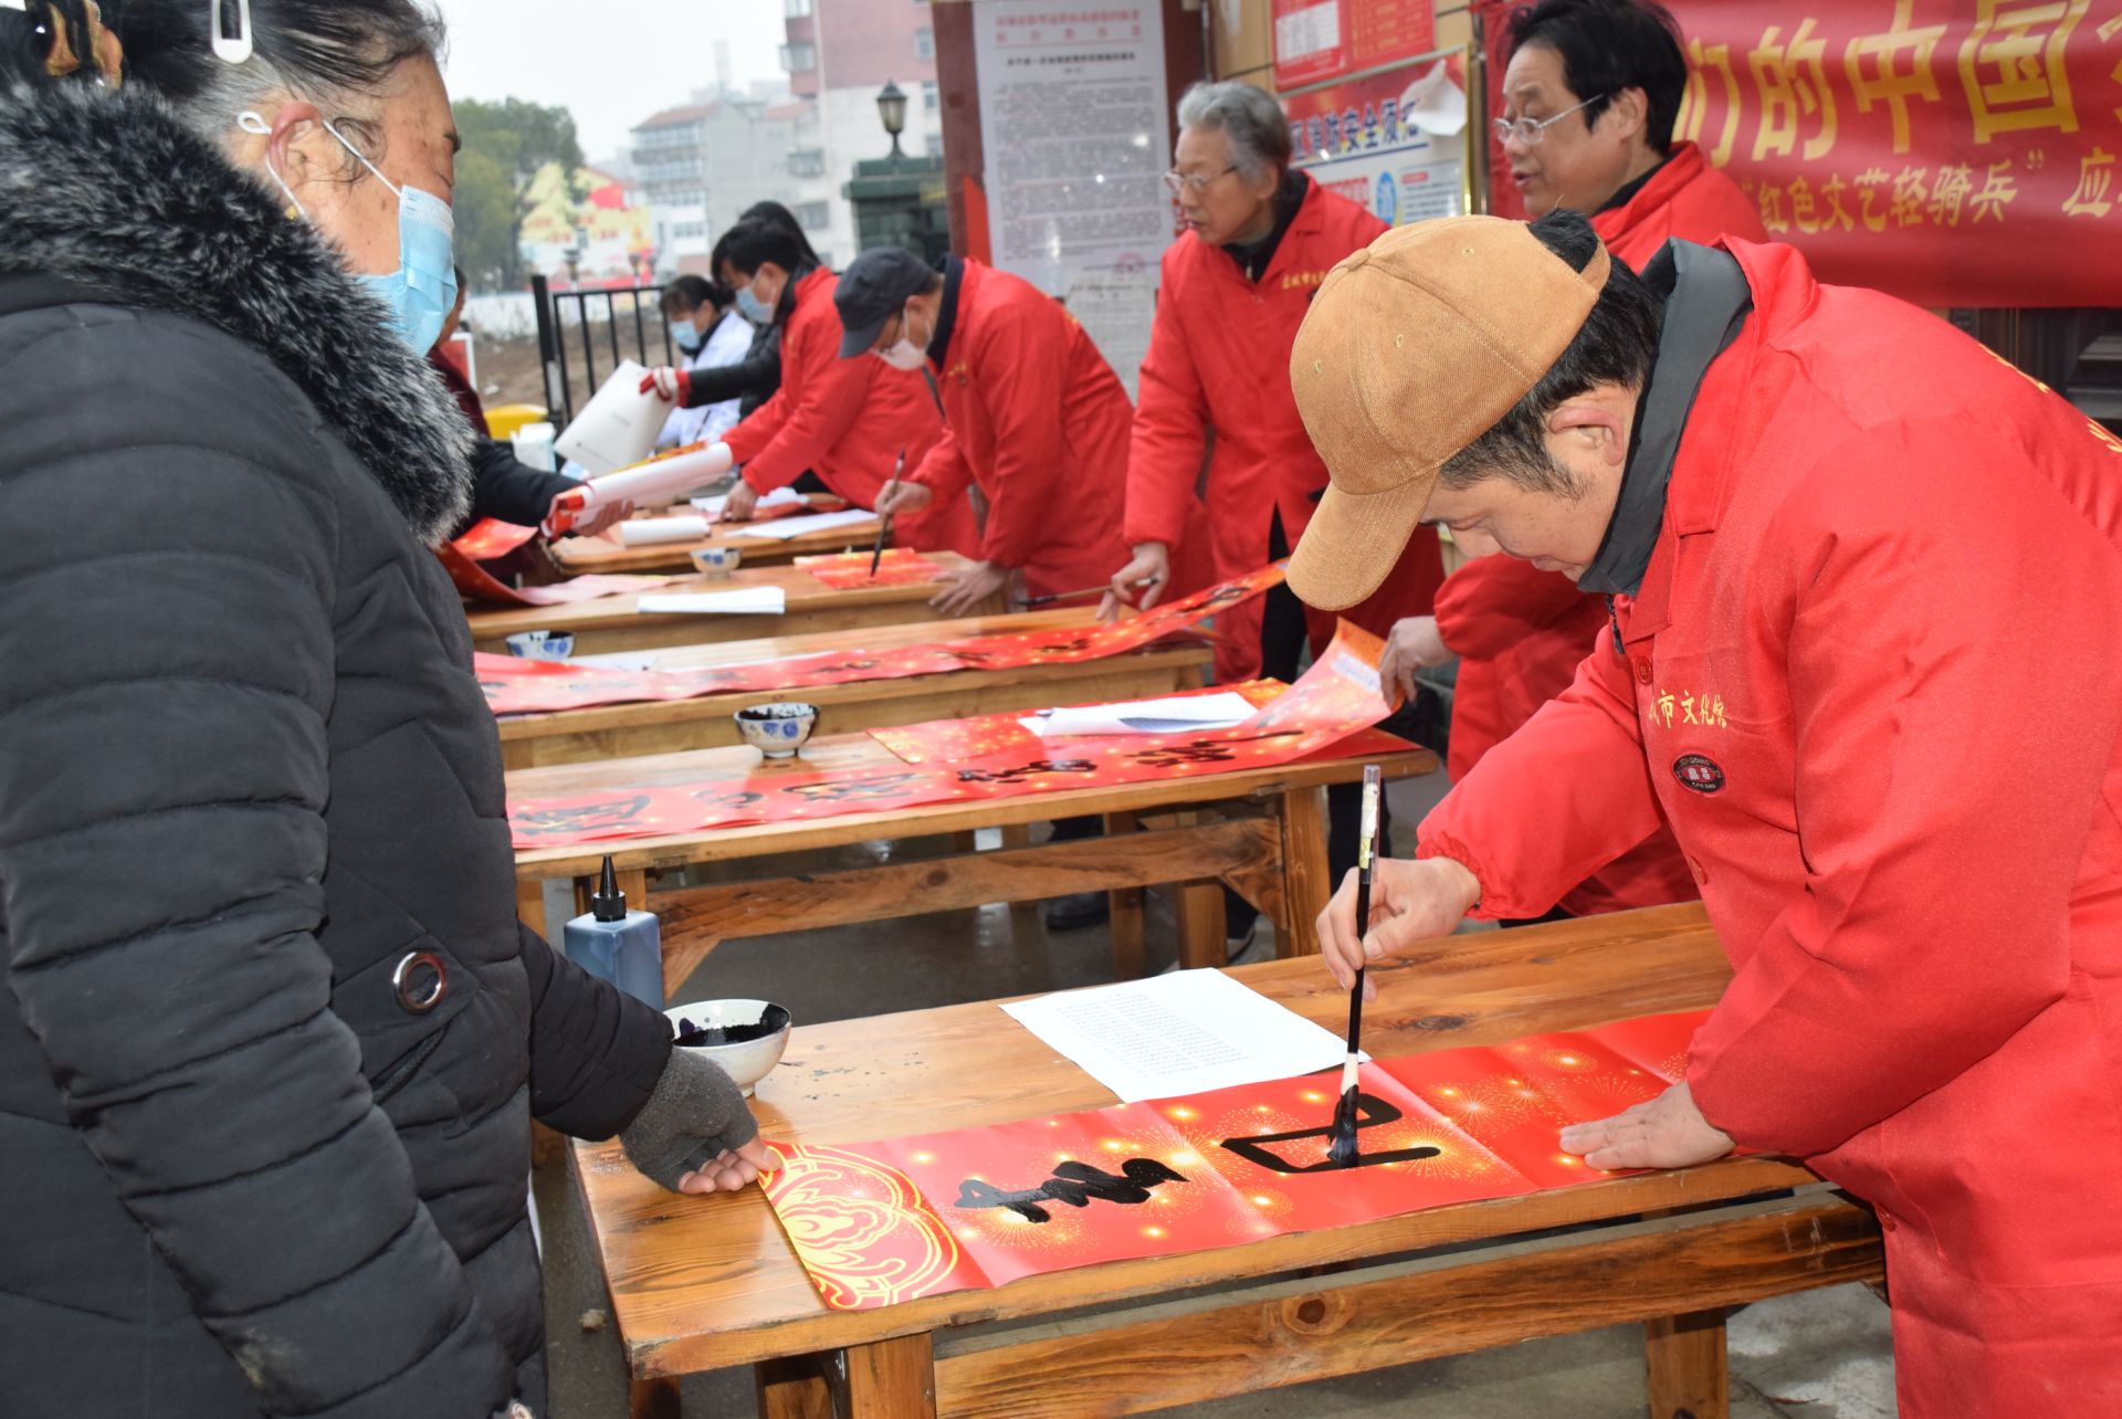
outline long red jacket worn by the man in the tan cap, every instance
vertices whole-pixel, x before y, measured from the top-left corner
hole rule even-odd
[[[2116,1415],[2122,443],[1929,314],[1732,250],[1755,310],[1625,658],[1420,851],[1524,916],[1664,810],[1736,967],[1693,1097],[1878,1205],[1901,1415]]]

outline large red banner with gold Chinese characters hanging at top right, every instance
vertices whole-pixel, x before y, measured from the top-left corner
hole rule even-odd
[[[1509,4],[1483,0],[1492,112]],[[2122,11],[1670,0],[1702,144],[1821,280],[1918,305],[2122,305]],[[1498,146],[1490,142],[1492,159]],[[1494,165],[1494,210],[1521,216]]]

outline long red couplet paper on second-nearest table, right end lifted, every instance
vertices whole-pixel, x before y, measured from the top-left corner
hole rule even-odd
[[[1405,740],[1369,730],[1390,711],[1362,662],[1335,649],[1354,636],[1377,641],[1343,624],[1328,653],[1258,715],[1229,730],[1203,734],[1129,734],[1046,742],[1023,734],[999,751],[961,755],[908,768],[802,772],[766,768],[747,778],[715,778],[677,787],[611,787],[598,793],[514,800],[509,831],[518,851],[575,846],[618,838],[660,838],[711,827],[796,823],[855,812],[891,812],[923,804],[989,798],[1025,798],[1059,789],[1112,787],[1152,778],[1193,778],[1243,768],[1273,768],[1311,755],[1335,757],[1401,753]],[[1265,687],[1275,687],[1265,681]],[[1367,691],[1364,691],[1367,685]],[[1263,694],[1260,687],[1254,694]],[[1364,698],[1369,694],[1369,698]],[[1339,715],[1339,717],[1337,717]],[[966,721],[917,725],[910,744],[951,744]],[[980,721],[974,721],[980,723]],[[991,719],[985,723],[993,723]]]

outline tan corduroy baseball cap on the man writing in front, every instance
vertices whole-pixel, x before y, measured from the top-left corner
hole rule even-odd
[[[1297,409],[1333,479],[1290,558],[1324,611],[1377,590],[1422,522],[1437,469],[1541,382],[1606,286],[1526,223],[1441,216],[1396,227],[1326,274],[1297,346]]]

